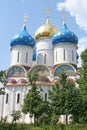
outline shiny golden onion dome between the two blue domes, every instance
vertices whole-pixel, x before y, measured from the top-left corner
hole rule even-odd
[[[46,18],[46,23],[40,26],[34,34],[35,40],[41,40],[44,38],[51,38],[56,32],[57,28],[49,21],[49,17]]]

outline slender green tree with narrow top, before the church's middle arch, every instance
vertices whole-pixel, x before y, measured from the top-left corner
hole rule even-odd
[[[44,112],[46,105],[41,97],[40,90],[36,85],[38,74],[28,74],[28,79],[31,89],[25,95],[22,111],[25,114],[29,113],[31,117],[34,116],[34,123],[37,125],[39,117]]]

